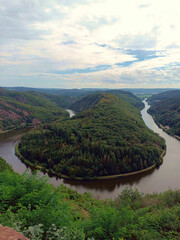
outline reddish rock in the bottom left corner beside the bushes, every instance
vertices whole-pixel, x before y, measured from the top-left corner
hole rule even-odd
[[[9,227],[0,225],[0,240],[28,240],[28,238]]]

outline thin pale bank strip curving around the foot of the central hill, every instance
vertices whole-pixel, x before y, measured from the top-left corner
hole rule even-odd
[[[129,176],[133,176],[133,175],[137,175],[137,174],[140,174],[140,173],[144,173],[144,172],[148,172],[152,169],[154,169],[155,167],[159,166],[160,164],[162,164],[163,162],[163,157],[164,155],[166,154],[166,150],[164,150],[162,153],[161,153],[161,156],[160,156],[160,161],[159,161],[159,164],[157,165],[157,163],[154,163],[153,165],[151,165],[150,167],[148,168],[145,168],[145,169],[141,169],[139,171],[135,171],[135,172],[130,172],[130,173],[120,173],[120,174],[116,174],[116,175],[109,175],[109,176],[100,176],[100,177],[93,177],[93,178],[90,178],[88,177],[87,179],[84,179],[82,177],[69,177],[69,176],[66,176],[66,175],[63,175],[63,174],[58,174],[56,173],[55,171],[53,171],[52,169],[47,169],[47,168],[44,168],[40,165],[35,165],[33,164],[32,162],[30,162],[29,160],[25,159],[22,154],[19,152],[19,143],[16,145],[15,147],[15,154],[16,156],[22,161],[24,162],[25,164],[27,164],[28,166],[30,166],[31,168],[33,168],[34,170],[40,170],[44,173],[47,173],[47,174],[52,174],[56,177],[59,177],[59,178],[64,178],[64,179],[73,179],[73,180],[81,180],[81,181],[84,181],[84,180],[107,180],[107,179],[115,179],[115,178],[120,178],[120,177],[129,177]]]

